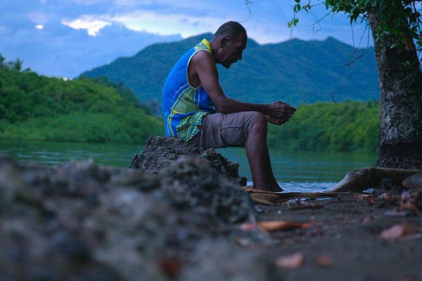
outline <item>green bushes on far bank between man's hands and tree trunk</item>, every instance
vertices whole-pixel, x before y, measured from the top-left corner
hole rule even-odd
[[[379,122],[378,101],[302,104],[289,122],[269,127],[268,144],[293,150],[374,153]]]

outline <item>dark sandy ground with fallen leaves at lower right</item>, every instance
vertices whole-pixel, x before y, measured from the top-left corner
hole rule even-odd
[[[421,216],[397,212],[399,201],[342,194],[338,198],[257,204],[258,220],[314,223],[268,232],[285,281],[420,281]],[[252,247],[253,248],[253,247]]]

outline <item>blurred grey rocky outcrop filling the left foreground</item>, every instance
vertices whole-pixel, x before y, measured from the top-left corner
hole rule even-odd
[[[266,239],[238,229],[254,217],[249,195],[208,160],[164,166],[145,173],[0,156],[1,280],[237,280],[239,270],[243,280],[265,278],[250,274],[253,256],[231,258],[234,239]]]

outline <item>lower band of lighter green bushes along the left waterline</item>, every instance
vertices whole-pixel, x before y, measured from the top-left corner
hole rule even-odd
[[[163,122],[141,110],[121,116],[100,112],[72,112],[55,118],[39,117],[0,125],[0,138],[54,142],[139,144],[162,134]]]

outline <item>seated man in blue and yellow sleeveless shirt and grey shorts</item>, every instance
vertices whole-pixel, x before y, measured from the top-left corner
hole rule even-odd
[[[281,101],[251,104],[226,97],[217,65],[230,68],[242,59],[248,37],[238,22],[226,22],[212,40],[188,50],[170,71],[163,88],[167,136],[208,148],[246,148],[253,188],[282,191],[274,178],[267,146],[267,122],[281,125],[295,108]]]

